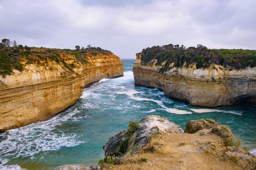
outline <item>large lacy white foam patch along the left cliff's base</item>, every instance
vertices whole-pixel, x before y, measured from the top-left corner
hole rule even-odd
[[[87,117],[87,115],[76,116],[77,113],[79,113],[77,109],[68,109],[50,120],[1,133],[0,136],[4,140],[0,142],[0,159],[33,156],[41,151],[59,150],[64,146],[73,147],[87,142],[79,140],[82,136],[77,136],[75,133],[56,130],[56,126],[62,125],[63,122],[74,122]]]

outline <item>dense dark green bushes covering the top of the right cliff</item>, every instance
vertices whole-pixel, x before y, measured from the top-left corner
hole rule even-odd
[[[208,49],[206,46],[198,44],[197,48],[186,48],[184,45],[163,45],[153,46],[143,49],[141,52],[142,65],[149,64],[152,59],[157,59],[156,65],[165,62],[159,72],[163,73],[173,67],[186,67],[196,63],[196,68],[208,68],[211,64],[224,65],[233,69],[243,69],[245,67],[256,66],[256,51],[242,49]]]

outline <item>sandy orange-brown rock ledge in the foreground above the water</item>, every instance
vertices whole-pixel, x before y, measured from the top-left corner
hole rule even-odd
[[[129,137],[132,152],[128,145],[123,158],[101,169],[256,169],[256,156],[227,146],[232,132],[229,126],[214,120],[191,120],[186,124],[185,133],[179,125],[157,115],[145,117],[139,125],[138,133]],[[120,141],[128,138],[127,132],[109,139],[103,146],[105,157],[118,154]],[[148,160],[141,162],[143,158]]]

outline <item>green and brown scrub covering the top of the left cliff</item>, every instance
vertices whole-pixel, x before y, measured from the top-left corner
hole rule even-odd
[[[13,69],[23,71],[26,64],[39,64],[46,65],[47,61],[55,61],[68,68],[71,72],[72,68],[75,68],[75,64],[67,64],[61,57],[64,55],[74,55],[77,62],[81,64],[87,64],[87,56],[102,54],[110,54],[111,51],[101,49],[99,47],[81,48],[76,46],[75,50],[70,49],[51,49],[44,47],[28,47],[27,45],[18,45],[16,41],[10,41],[9,39],[2,39],[0,43],[0,75],[10,75]],[[21,61],[26,61],[22,64]],[[24,63],[24,62],[23,62]],[[74,73],[74,72],[73,72]]]

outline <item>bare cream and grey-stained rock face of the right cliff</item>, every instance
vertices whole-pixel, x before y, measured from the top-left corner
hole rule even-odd
[[[233,105],[243,99],[256,98],[256,68],[232,70],[221,65],[211,65],[208,69],[196,69],[196,64],[188,68],[173,67],[159,73],[162,66],[152,59],[141,65],[141,53],[136,54],[133,66],[136,85],[158,88],[175,99],[189,102],[194,106],[216,107]],[[165,63],[162,63],[164,65]]]

